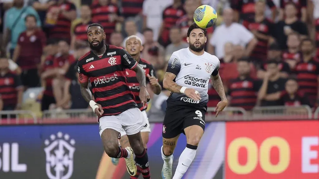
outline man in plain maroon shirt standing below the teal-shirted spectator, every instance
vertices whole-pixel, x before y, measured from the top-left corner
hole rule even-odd
[[[19,35],[12,60],[22,69],[22,84],[25,87],[36,87],[40,84],[38,65],[47,39],[44,32],[37,27],[34,15],[27,15],[25,21],[26,31]]]

